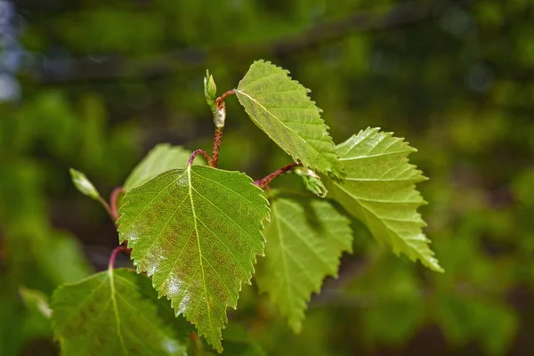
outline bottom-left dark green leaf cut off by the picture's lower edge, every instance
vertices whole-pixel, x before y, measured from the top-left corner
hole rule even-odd
[[[147,277],[109,269],[54,291],[54,335],[64,355],[184,355],[164,302]]]

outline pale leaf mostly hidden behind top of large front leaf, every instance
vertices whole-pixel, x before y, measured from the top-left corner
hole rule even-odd
[[[170,169],[184,168],[187,166],[190,155],[190,150],[185,150],[180,146],[171,146],[168,143],[156,145],[126,178],[124,189],[131,190]],[[195,163],[206,164],[202,157],[197,157]]]

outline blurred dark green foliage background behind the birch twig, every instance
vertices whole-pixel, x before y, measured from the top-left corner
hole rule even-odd
[[[0,0],[0,355],[57,354],[20,286],[50,295],[117,246],[69,167],[107,195],[158,142],[209,150],[206,69],[223,93],[261,58],[312,89],[336,142],[380,126],[419,150],[446,273],[355,222],[301,335],[254,285],[231,323],[273,355],[532,354],[532,1]],[[221,168],[257,179],[290,162],[227,109]]]

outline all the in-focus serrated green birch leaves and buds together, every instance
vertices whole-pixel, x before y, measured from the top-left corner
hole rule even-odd
[[[209,74],[205,85],[219,130],[225,113],[217,113],[223,106],[214,100]],[[262,181],[217,169],[212,159],[210,166],[193,166],[189,151],[158,145],[126,179],[118,211],[119,242],[131,249],[139,274],[114,270],[113,256],[108,271],[54,292],[53,328],[64,352],[186,352],[186,333],[160,315],[160,296],[222,352],[226,310],[237,308],[258,255],[264,256],[255,274],[260,291],[299,332],[312,293],[327,276],[337,275],[341,255],[352,252],[349,216],[397,255],[442,271],[417,213],[425,201],[415,184],[425,177],[409,164],[414,149],[370,128],[336,146],[308,92],[286,70],[265,61],[255,61],[233,90],[319,198],[263,192]],[[101,199],[84,174],[71,174],[78,190]]]

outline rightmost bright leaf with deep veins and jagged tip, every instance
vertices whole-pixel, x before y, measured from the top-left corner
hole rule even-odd
[[[416,149],[379,130],[367,128],[337,146],[347,175],[343,182],[328,180],[328,190],[395,254],[406,254],[433,271],[443,271],[422,232],[425,222],[417,213],[425,200],[415,184],[427,178],[409,164],[408,156]]]

